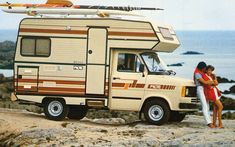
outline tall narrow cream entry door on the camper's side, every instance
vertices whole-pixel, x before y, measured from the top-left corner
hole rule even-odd
[[[89,28],[86,64],[86,94],[105,95],[107,65],[106,28]]]

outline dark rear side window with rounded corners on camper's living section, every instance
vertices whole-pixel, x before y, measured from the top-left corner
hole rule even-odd
[[[22,38],[21,55],[49,57],[51,40],[49,38]]]

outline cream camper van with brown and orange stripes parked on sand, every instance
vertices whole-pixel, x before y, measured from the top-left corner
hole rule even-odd
[[[195,85],[172,76],[158,52],[180,45],[169,26],[114,18],[26,18],[19,26],[14,95],[47,118],[89,108],[143,113],[157,125],[197,110]]]

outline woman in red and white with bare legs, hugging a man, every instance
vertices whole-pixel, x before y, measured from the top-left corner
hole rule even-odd
[[[214,109],[213,109],[213,125],[216,126],[216,120],[218,116],[218,121],[219,121],[219,128],[224,128],[224,125],[222,123],[222,110],[223,110],[223,104],[220,101],[220,96],[221,93],[219,89],[216,87],[218,85],[217,78],[215,74],[213,74],[214,67],[212,65],[208,65],[206,67],[206,74],[203,77],[205,81],[214,81],[215,85],[210,86],[210,85],[204,85],[204,93],[207,101],[212,101],[214,102]]]

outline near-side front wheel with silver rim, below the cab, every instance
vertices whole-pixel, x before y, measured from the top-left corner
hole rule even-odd
[[[162,125],[168,122],[170,118],[170,108],[168,104],[161,100],[151,100],[144,106],[145,119],[155,125]]]

